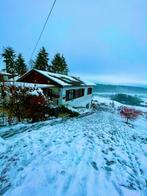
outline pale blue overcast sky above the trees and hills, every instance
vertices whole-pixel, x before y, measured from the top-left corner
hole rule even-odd
[[[1,0],[0,52],[12,46],[28,63],[52,3]],[[70,74],[147,84],[147,0],[57,0],[42,46],[63,53]]]

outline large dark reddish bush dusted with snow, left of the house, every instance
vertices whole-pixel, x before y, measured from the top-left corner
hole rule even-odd
[[[24,119],[32,122],[43,120],[47,100],[41,89],[17,88],[11,86],[9,96],[4,102],[4,108],[8,113],[8,121],[11,124],[13,118],[20,122]],[[5,99],[5,97],[4,97]]]

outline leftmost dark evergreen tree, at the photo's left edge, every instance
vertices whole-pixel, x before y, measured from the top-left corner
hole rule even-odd
[[[13,76],[16,73],[16,65],[15,65],[15,51],[11,47],[7,47],[4,49],[3,53],[1,54],[3,57],[3,61],[6,65],[6,71],[11,73]]]

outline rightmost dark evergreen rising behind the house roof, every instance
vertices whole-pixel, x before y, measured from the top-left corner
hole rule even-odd
[[[63,55],[61,56],[59,53],[57,53],[54,56],[51,69],[51,71],[54,73],[68,75],[68,65]]]

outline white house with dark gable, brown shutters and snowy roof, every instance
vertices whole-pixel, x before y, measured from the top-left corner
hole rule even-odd
[[[40,86],[56,105],[86,106],[91,102],[94,83],[47,71],[32,69],[17,82]]]

